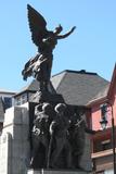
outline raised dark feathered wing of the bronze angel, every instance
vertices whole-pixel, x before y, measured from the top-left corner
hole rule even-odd
[[[48,35],[47,30],[47,22],[43,18],[43,16],[37,12],[34,8],[31,8],[29,4],[27,4],[28,10],[28,22],[29,22],[29,28],[31,32],[31,39],[34,44],[39,47],[42,38],[44,38]]]

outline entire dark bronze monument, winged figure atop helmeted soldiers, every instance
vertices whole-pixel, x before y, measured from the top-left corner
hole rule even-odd
[[[67,105],[63,97],[49,91],[51,69],[53,61],[53,49],[57,40],[69,36],[76,27],[65,35],[59,25],[54,32],[47,29],[43,16],[29,4],[28,22],[31,39],[38,47],[38,53],[30,59],[22,71],[24,79],[34,76],[39,82],[39,91],[34,96],[33,123],[30,128],[33,169],[77,169],[85,146],[85,113]],[[44,95],[46,94],[46,95]],[[41,100],[39,100],[40,98]],[[34,100],[31,100],[34,102]],[[72,109],[70,109],[72,108]],[[82,137],[79,141],[79,126],[82,127]]]

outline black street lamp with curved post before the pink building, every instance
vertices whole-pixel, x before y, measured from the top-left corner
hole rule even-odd
[[[113,139],[113,167],[114,167],[114,174],[116,174],[116,158],[115,158],[115,124],[114,124],[114,112],[113,112],[113,105],[107,102],[101,105],[101,115],[102,120],[100,121],[102,129],[106,129],[107,126],[107,107],[111,107],[112,109],[112,139]]]

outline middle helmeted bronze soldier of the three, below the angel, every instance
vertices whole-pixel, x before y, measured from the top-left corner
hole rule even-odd
[[[59,103],[55,107],[56,117],[50,125],[50,133],[54,132],[54,150],[51,156],[51,167],[72,167],[72,151],[68,141],[69,120],[64,114],[66,105]],[[64,150],[64,153],[63,153]],[[60,161],[65,163],[60,164]]]

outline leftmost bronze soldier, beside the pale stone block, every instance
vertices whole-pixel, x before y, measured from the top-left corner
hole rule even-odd
[[[36,164],[38,160],[36,160],[36,157],[38,156],[38,151],[42,151],[44,153],[44,157],[41,159],[41,165],[42,167],[47,167],[47,161],[48,161],[48,148],[49,148],[49,126],[51,123],[51,104],[44,103],[42,107],[42,112],[38,112],[37,117],[34,121],[34,127],[33,127],[33,154],[30,160],[30,166],[35,169],[35,165],[38,165],[36,167],[39,167],[39,164]]]

